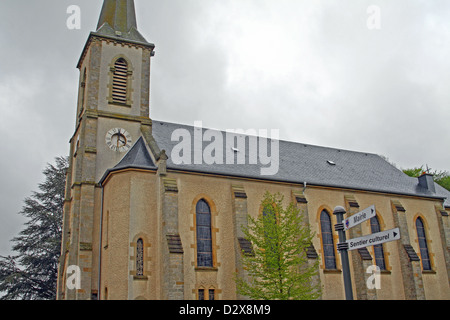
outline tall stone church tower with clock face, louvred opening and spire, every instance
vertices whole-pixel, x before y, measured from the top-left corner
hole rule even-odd
[[[137,29],[133,0],[104,0],[97,30],[90,33],[77,65],[79,93],[70,140],[58,299],[98,298],[103,174],[140,137],[152,157],[159,157],[149,118],[154,48]]]

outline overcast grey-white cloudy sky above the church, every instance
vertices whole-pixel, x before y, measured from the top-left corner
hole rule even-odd
[[[47,162],[69,152],[101,0],[0,1],[0,255]],[[450,170],[450,1],[136,0],[156,45],[152,119]],[[69,30],[69,5],[81,29]],[[381,29],[370,30],[370,5]],[[370,11],[373,13],[373,11]]]

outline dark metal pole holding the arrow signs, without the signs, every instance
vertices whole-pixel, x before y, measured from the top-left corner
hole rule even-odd
[[[336,230],[339,234],[339,243],[337,248],[339,253],[341,254],[342,260],[342,273],[344,275],[344,289],[345,289],[345,299],[353,300],[353,289],[352,289],[352,278],[350,275],[350,264],[348,261],[348,243],[345,237],[344,224],[342,221],[344,220],[344,214],[346,213],[345,209],[341,206],[337,206],[334,208],[333,214],[336,215],[337,224],[334,226],[334,230]]]

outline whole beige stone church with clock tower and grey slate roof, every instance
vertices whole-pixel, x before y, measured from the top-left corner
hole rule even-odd
[[[245,298],[233,280],[251,247],[242,227],[261,214],[266,191],[295,203],[315,233],[307,256],[319,259],[321,299],[345,298],[333,209],[347,217],[371,205],[376,216],[347,239],[393,228],[401,239],[349,251],[355,299],[450,299],[450,192],[431,175],[408,177],[375,154],[243,133],[215,144],[215,161],[202,159],[209,143],[196,136],[230,135],[151,119],[154,50],[134,1],[105,0],[77,65],[58,299]],[[269,164],[258,161],[256,140],[278,151],[273,174],[262,174]],[[379,288],[367,285],[372,265]]]

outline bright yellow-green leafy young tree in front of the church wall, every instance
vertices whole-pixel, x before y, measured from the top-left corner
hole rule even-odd
[[[243,232],[253,252],[242,252],[248,279],[236,275],[238,292],[257,300],[312,300],[320,296],[313,285],[319,260],[308,264],[306,255],[313,234],[293,203],[283,207],[283,197],[268,192],[262,200],[263,214],[249,217]]]

